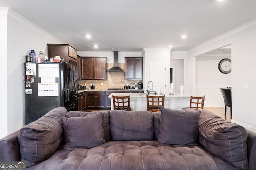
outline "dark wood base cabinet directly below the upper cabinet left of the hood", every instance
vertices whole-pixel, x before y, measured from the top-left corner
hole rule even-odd
[[[104,108],[105,107],[105,91],[87,91],[87,108]]]

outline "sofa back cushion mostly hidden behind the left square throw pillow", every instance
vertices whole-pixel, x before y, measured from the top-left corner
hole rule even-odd
[[[100,112],[102,112],[104,139],[106,141],[110,141],[109,111],[92,111],[92,112],[69,111],[66,117],[84,117],[89,115],[95,115]]]

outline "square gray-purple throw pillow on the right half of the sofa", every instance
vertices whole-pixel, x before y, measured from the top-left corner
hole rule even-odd
[[[196,145],[200,111],[174,110],[162,106],[160,111],[159,142],[185,146]]]

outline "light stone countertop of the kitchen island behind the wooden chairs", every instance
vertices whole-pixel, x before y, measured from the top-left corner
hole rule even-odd
[[[112,95],[115,96],[127,96],[127,93],[111,93],[108,98],[112,98]],[[130,98],[146,98],[147,93],[129,93]],[[156,95],[160,96],[160,95]],[[190,94],[183,94],[183,93],[174,93],[174,95],[165,95],[165,98],[190,98]]]

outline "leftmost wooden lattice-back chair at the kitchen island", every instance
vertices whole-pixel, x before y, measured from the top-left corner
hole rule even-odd
[[[114,110],[131,111],[130,96],[112,96]]]

